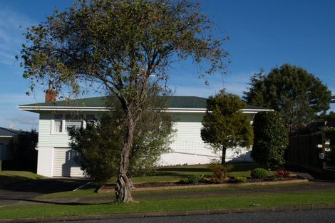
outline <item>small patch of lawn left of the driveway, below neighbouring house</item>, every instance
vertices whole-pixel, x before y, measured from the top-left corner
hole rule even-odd
[[[21,182],[24,180],[36,180],[43,178],[41,175],[36,175],[36,173],[33,172],[27,172],[27,171],[0,171],[0,187],[15,183],[15,182]]]

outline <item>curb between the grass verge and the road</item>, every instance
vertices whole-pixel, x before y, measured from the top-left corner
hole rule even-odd
[[[130,214],[96,214],[87,216],[69,217],[38,217],[38,218],[19,218],[19,219],[0,219],[0,223],[31,223],[31,222],[63,222],[63,221],[83,221],[100,219],[124,219],[142,217],[167,217],[167,216],[189,216],[203,214],[233,214],[247,212],[293,212],[317,209],[335,209],[335,204],[307,204],[276,207],[245,207],[232,209],[207,209],[176,212],[143,212]]]

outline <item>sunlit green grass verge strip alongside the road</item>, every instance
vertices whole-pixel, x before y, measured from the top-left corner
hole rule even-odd
[[[273,192],[248,195],[225,195],[217,197],[148,199],[131,204],[98,202],[9,206],[0,208],[0,219],[334,203],[335,190],[314,190],[304,192]]]

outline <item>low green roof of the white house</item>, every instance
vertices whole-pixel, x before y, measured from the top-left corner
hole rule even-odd
[[[195,96],[171,96],[168,98],[169,108],[206,108],[207,98],[195,97]],[[106,107],[106,97],[96,97],[96,98],[82,98],[73,100],[59,100],[54,103],[33,103],[22,106],[37,106],[37,107]],[[248,105],[249,109],[262,109],[257,106]]]

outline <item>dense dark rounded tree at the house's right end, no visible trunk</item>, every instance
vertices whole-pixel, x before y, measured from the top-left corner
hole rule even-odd
[[[269,168],[284,165],[289,133],[282,115],[275,111],[259,112],[254,115],[253,129],[252,158]]]

